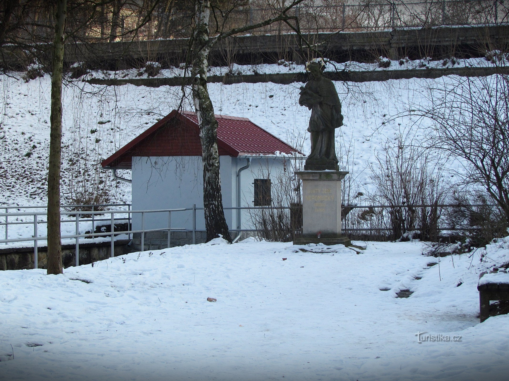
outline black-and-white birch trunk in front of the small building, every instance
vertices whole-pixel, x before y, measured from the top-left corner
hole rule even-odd
[[[219,177],[219,152],[217,150],[217,121],[214,107],[207,90],[210,0],[196,0],[195,30],[193,43],[192,96],[196,117],[200,126],[203,159],[203,204],[207,241],[221,235],[232,242],[224,219]]]

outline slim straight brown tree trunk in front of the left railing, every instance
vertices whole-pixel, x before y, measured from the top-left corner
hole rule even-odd
[[[62,67],[67,0],[58,0],[51,74],[51,131],[48,168],[48,274],[62,274],[60,166],[62,156]]]

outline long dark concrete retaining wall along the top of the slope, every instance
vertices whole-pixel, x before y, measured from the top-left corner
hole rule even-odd
[[[425,56],[471,57],[482,56],[486,49],[506,44],[509,25],[395,28],[377,32],[305,34],[304,37],[323,56],[337,62],[373,61],[380,55],[393,60],[405,56],[412,60]],[[64,65],[69,67],[76,62],[86,62],[91,69],[122,70],[157,61],[163,67],[169,67],[185,62],[188,45],[187,39],[67,44]],[[209,64],[252,65],[277,63],[281,59],[302,63],[308,54],[316,55],[300,46],[295,34],[235,36],[214,45]],[[51,45],[39,47],[45,51],[40,53],[40,61],[50,62]],[[0,53],[9,67],[26,68],[32,59],[31,54],[11,45],[4,45]]]

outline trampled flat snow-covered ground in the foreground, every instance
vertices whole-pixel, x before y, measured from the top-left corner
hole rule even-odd
[[[509,238],[435,266],[422,250],[216,239],[0,272],[0,379],[507,379],[509,316],[479,324],[476,285]]]

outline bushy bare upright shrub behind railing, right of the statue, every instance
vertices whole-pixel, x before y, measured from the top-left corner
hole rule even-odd
[[[384,150],[385,156],[378,155],[377,163],[371,166],[377,187],[373,201],[388,206],[391,238],[408,240],[415,235],[421,240],[436,241],[442,214],[439,204],[448,192],[437,158],[430,151],[405,145],[401,136],[397,144],[385,144]]]

